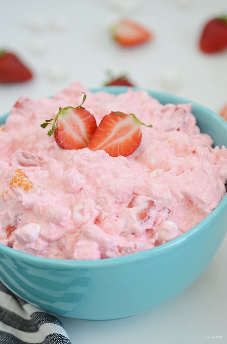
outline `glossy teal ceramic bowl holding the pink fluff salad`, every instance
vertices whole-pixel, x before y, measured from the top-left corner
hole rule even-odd
[[[119,94],[126,87],[102,87]],[[161,103],[193,103],[147,90]],[[227,146],[227,122],[194,103],[202,132]],[[2,116],[3,123],[7,116]],[[147,251],[102,260],[55,260],[18,252],[0,244],[0,280],[41,309],[70,318],[108,320],[149,310],[188,288],[207,268],[227,230],[227,196],[198,225]]]

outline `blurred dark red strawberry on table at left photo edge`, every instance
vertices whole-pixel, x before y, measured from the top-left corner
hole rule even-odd
[[[0,50],[0,83],[17,83],[31,79],[33,74],[13,53]]]

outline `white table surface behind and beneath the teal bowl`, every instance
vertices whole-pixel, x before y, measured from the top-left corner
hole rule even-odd
[[[0,12],[0,47],[16,52],[35,73],[30,82],[0,85],[1,114],[19,96],[52,95],[76,79],[99,87],[108,69],[216,112],[227,103],[227,51],[198,50],[202,24],[227,13],[226,0],[0,0]],[[123,17],[150,28],[153,41],[117,46],[108,29]],[[226,258],[227,238],[191,287],[146,313],[103,322],[60,319],[72,344],[227,343]]]

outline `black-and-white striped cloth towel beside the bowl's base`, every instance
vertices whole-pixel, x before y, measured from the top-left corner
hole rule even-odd
[[[14,295],[0,282],[0,344],[71,344],[57,316]]]

